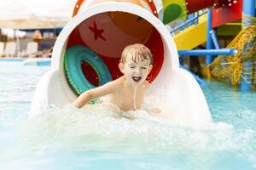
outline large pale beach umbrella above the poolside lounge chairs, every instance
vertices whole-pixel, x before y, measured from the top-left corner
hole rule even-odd
[[[75,2],[62,0],[54,5],[47,0],[0,0],[0,28],[20,30],[63,27],[72,18]],[[19,56],[19,37],[16,40]]]

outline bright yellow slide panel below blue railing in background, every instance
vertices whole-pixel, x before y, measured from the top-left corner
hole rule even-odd
[[[193,49],[207,41],[207,14],[203,14],[198,25],[189,26],[173,37],[177,49]]]

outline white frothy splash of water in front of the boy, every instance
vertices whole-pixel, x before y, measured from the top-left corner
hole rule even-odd
[[[20,137],[27,137],[21,139],[26,150],[111,150],[166,155],[182,150],[187,154],[192,150],[211,150],[212,138],[218,136],[225,140],[233,135],[232,126],[224,123],[193,129],[177,127],[159,117],[149,116],[146,111],[134,111],[133,115],[137,117],[131,121],[119,117],[118,112],[105,105],[87,105],[83,110],[67,105],[64,109],[50,109],[44,115],[28,118],[20,126],[19,133]],[[220,132],[214,132],[216,129]]]

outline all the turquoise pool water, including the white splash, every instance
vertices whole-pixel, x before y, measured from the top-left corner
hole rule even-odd
[[[0,62],[1,169],[256,169],[256,94],[202,87],[214,124],[180,127],[53,108],[27,116],[49,67]],[[101,108],[97,108],[101,111]]]

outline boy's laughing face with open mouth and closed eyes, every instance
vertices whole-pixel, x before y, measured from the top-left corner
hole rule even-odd
[[[132,60],[131,55],[126,56],[125,63],[119,63],[119,69],[124,74],[125,79],[131,82],[131,85],[141,85],[148,77],[152,69],[149,59],[138,59],[137,63]]]

